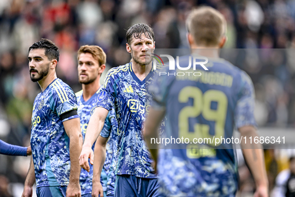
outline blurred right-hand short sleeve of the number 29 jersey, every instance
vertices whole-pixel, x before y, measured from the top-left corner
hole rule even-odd
[[[239,91],[239,100],[235,109],[236,127],[246,125],[257,126],[254,117],[255,92],[252,80],[248,74],[242,72]]]

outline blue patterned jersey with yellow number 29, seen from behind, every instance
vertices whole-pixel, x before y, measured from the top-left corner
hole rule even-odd
[[[187,67],[188,56],[179,62]],[[165,136],[190,141],[172,144],[178,149],[159,150],[159,183],[167,196],[235,196],[238,188],[233,144],[207,144],[211,148],[202,149],[205,146],[192,142],[194,138],[231,138],[234,126],[256,125],[253,83],[224,59],[209,58],[205,66],[209,70],[167,68],[167,73],[178,75],[157,75],[149,87],[154,94],[151,105],[166,108]]]

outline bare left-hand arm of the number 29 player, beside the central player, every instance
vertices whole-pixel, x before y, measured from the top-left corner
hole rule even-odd
[[[145,121],[145,128],[143,130],[143,138],[150,149],[152,158],[154,160],[154,169],[157,167],[158,149],[157,144],[151,144],[151,138],[158,137],[158,127],[165,115],[165,108],[154,108],[151,107],[147,119]]]

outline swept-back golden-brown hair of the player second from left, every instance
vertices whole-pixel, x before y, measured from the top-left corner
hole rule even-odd
[[[99,66],[105,64],[106,62],[106,54],[103,49],[96,45],[83,45],[78,50],[77,58],[79,60],[81,53],[89,52],[92,54],[93,58],[98,61]]]

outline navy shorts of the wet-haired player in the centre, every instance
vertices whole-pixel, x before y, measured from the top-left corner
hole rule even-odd
[[[117,175],[115,197],[158,197],[159,183],[157,178],[141,178],[135,175]]]

